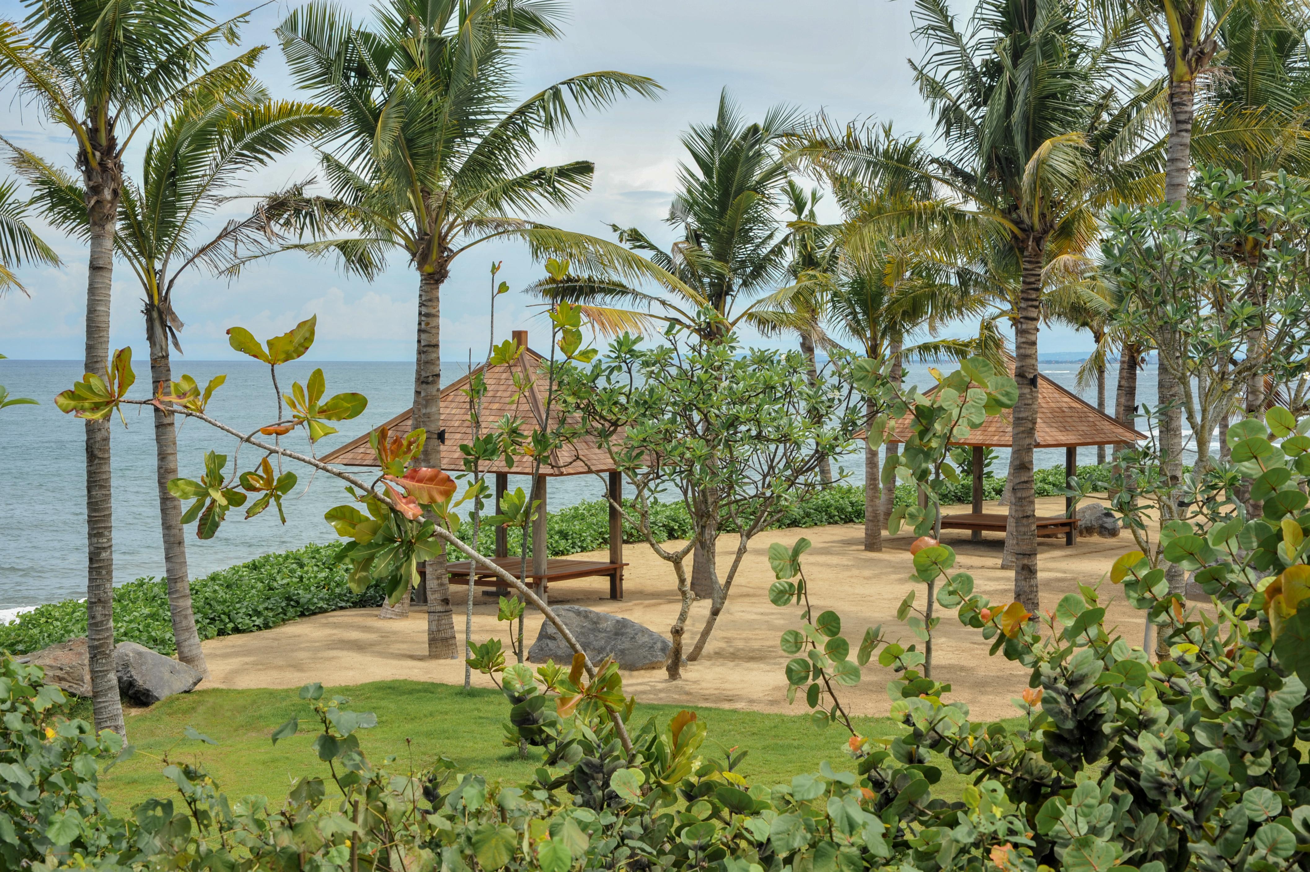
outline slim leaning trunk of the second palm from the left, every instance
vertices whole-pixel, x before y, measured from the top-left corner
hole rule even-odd
[[[159,306],[145,304],[145,341],[151,347],[151,384],[155,391],[173,382],[169,361],[168,329]],[[177,658],[206,678],[210,667],[200,650],[191,608],[191,581],[186,569],[186,538],[182,530],[182,501],[168,492],[168,483],[177,477],[177,430],[173,416],[155,409],[155,484],[160,497],[160,532],[164,536],[164,573],[168,577],[168,607],[173,618],[173,641]]]

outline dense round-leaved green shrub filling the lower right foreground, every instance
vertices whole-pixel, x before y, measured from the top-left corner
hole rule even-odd
[[[1121,555],[1108,582],[1079,585],[1040,618],[975,593],[955,552],[929,542],[912,559],[927,607],[914,608],[912,590],[896,615],[917,641],[907,648],[874,627],[855,649],[859,636],[842,636],[837,612],[812,616],[800,566],[810,543],[770,547],[778,581],[769,598],[800,608],[800,627],[779,640],[794,657],[787,699],[804,699],[817,725],[850,730],[865,808],[896,830],[882,855],[891,862],[870,865],[981,869],[977,858],[988,858],[1003,872],[1306,868],[1310,417],[1275,408],[1265,421],[1230,427],[1231,463],[1176,484],[1161,479],[1149,447],[1127,452],[1114,507],[1141,549]],[[1142,517],[1158,518],[1166,500],[1187,517],[1151,540]],[[1210,597],[1204,610],[1170,590],[1170,565],[1195,573]],[[1107,623],[1107,601],[1119,598],[1159,633],[1161,660],[1133,644],[1140,624]],[[967,705],[948,702],[950,684],[930,673],[943,619],[933,604],[979,631],[992,656],[1031,670],[1014,700],[1020,723],[971,721]],[[907,619],[910,611],[918,615]],[[1123,635],[1128,627],[1136,639]],[[858,736],[845,688],[871,661],[896,673],[891,715],[910,734]],[[972,779],[963,803],[933,797],[941,771],[931,755]],[[982,809],[986,826],[973,817]]]

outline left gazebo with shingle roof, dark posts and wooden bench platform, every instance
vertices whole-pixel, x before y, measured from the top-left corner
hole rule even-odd
[[[469,386],[469,379],[476,372],[482,372],[486,382],[486,395],[482,397],[482,421],[499,421],[506,414],[525,422],[525,430],[546,425],[546,376],[549,362],[541,354],[528,347],[528,332],[514,330],[515,344],[523,349],[519,359],[510,365],[478,366],[468,375],[457,379],[441,389],[441,430],[434,437],[441,443],[441,468],[464,469],[464,454],[460,451],[461,443],[473,442],[473,422],[469,420],[469,399],[462,393]],[[515,384],[515,375],[527,389],[519,389]],[[392,434],[405,435],[410,431],[414,409],[397,414],[385,426]],[[557,412],[550,413],[550,426],[559,424]],[[339,448],[326,454],[325,463],[335,463],[347,467],[373,467],[377,468],[377,459],[368,445],[368,434],[351,439]],[[495,504],[496,513],[500,511],[500,498],[510,486],[510,475],[532,475],[534,459],[527,455],[516,456],[514,466],[506,466],[500,459],[489,464],[483,472],[495,475]],[[587,473],[609,473],[608,494],[614,502],[622,501],[624,479],[614,468],[609,454],[597,443],[590,439],[579,439],[542,459],[541,469],[533,481],[532,500],[540,500],[541,506],[532,525],[532,564],[529,577],[532,586],[538,593],[545,593],[552,581],[566,581],[570,578],[609,578],[609,598],[624,598],[624,519],[622,514],[609,506],[609,560],[566,560],[562,557],[546,556],[546,480],[558,476],[574,476]],[[504,527],[495,531],[495,557],[494,563],[506,572],[517,576],[520,559],[511,557],[508,551],[508,536]],[[468,576],[470,561],[455,561],[447,564],[451,576]],[[504,582],[494,574],[478,570],[474,584],[483,587],[503,587]]]

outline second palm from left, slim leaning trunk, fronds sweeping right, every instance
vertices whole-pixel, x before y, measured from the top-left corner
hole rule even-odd
[[[203,235],[204,220],[228,201],[242,173],[321,135],[337,117],[333,109],[272,101],[245,76],[228,83],[220,93],[198,90],[151,135],[138,181],[123,181],[114,243],[144,292],[152,386],[166,389],[173,383],[169,342],[182,350],[177,337],[182,320],[173,308],[177,279],[194,269],[231,271],[244,257],[266,252],[280,240],[282,228],[312,203],[297,186],[263,199],[249,218],[229,220],[212,236]],[[37,155],[17,148],[13,152],[16,168],[35,188],[52,223],[85,237],[85,190]],[[178,476],[177,433],[173,416],[160,408],[155,409],[155,458],[177,656],[208,675],[191,608],[181,502],[168,490],[168,483]]]

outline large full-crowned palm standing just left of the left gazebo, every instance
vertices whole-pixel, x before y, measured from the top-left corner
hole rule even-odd
[[[373,26],[328,3],[293,10],[278,28],[297,84],[338,109],[342,125],[322,159],[333,195],[359,235],[307,245],[335,252],[373,275],[401,249],[418,271],[414,426],[440,430],[440,291],[456,257],[494,239],[532,254],[558,254],[631,281],[658,270],[622,247],[538,224],[528,215],[567,207],[588,190],[593,167],[531,167],[537,136],[559,136],[572,113],[620,97],[654,97],[652,80],[600,71],[515,101],[515,60],[534,39],[558,38],[559,10],[545,0],[389,0]],[[440,466],[430,438],[418,460]],[[457,657],[444,559],[427,564],[428,654]],[[407,599],[400,603],[407,608]]]

